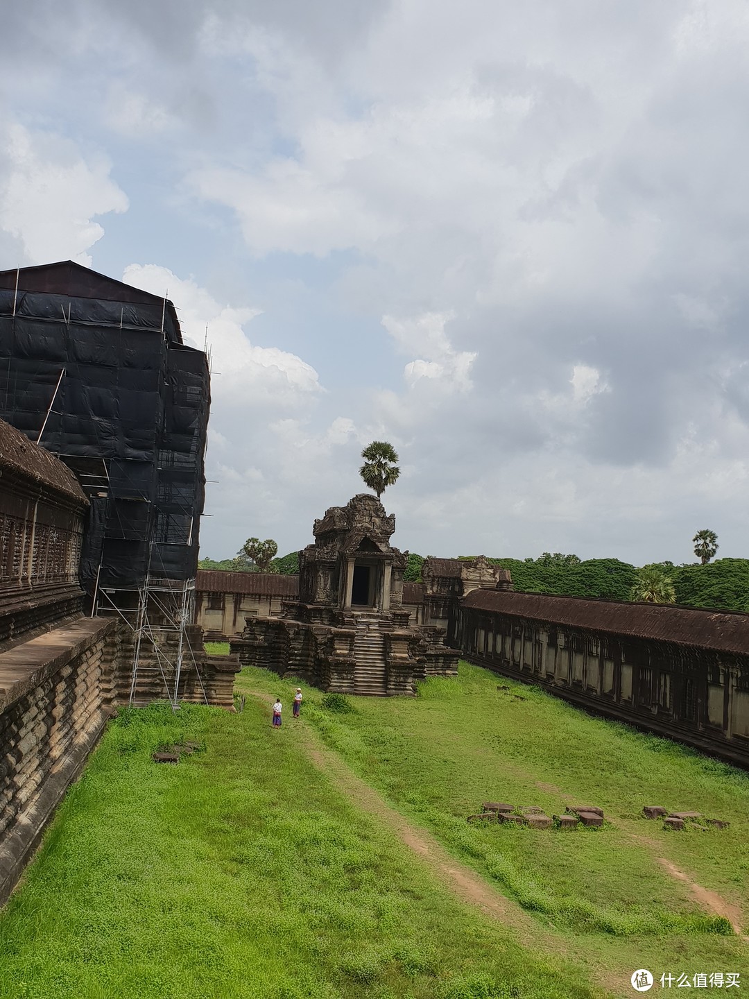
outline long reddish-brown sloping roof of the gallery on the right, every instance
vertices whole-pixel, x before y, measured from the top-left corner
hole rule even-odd
[[[749,614],[738,611],[490,589],[474,589],[461,602],[476,610],[493,610],[552,625],[749,654]]]

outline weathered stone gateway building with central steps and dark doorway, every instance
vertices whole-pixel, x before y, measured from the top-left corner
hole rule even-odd
[[[300,552],[299,598],[280,617],[248,618],[232,640],[240,661],[339,693],[412,694],[417,679],[454,675],[444,628],[412,623],[402,605],[407,552],[390,546],[394,529],[370,494],[331,506]]]

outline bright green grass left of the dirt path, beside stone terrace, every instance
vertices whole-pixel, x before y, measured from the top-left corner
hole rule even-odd
[[[390,702],[396,718],[426,704]],[[272,730],[254,698],[240,715],[122,710],[0,914],[0,997],[601,995],[453,898],[313,765],[302,732]],[[183,739],[204,748],[152,762]]]

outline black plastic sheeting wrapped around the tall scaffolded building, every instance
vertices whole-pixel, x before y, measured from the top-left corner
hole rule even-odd
[[[0,418],[36,441],[54,397],[40,444],[91,501],[84,586],[91,592],[97,575],[101,587],[127,589],[149,573],[192,578],[205,498],[205,354],[182,344],[171,303],[28,293],[23,278],[17,294],[0,288]]]

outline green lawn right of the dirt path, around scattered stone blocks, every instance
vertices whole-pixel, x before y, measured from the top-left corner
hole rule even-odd
[[[293,685],[260,669],[239,680],[240,689],[278,690],[287,699]],[[321,699],[311,691],[305,717],[327,744],[581,960],[598,969],[749,978],[747,945],[659,861],[728,904],[747,906],[749,774],[467,663],[456,680],[421,684],[416,698],[352,697],[356,711],[347,714],[326,710]],[[548,814],[598,805],[609,821],[575,832],[468,825],[466,816],[489,799]],[[642,816],[645,804],[731,825],[669,832]],[[747,908],[741,919],[747,932]]]

